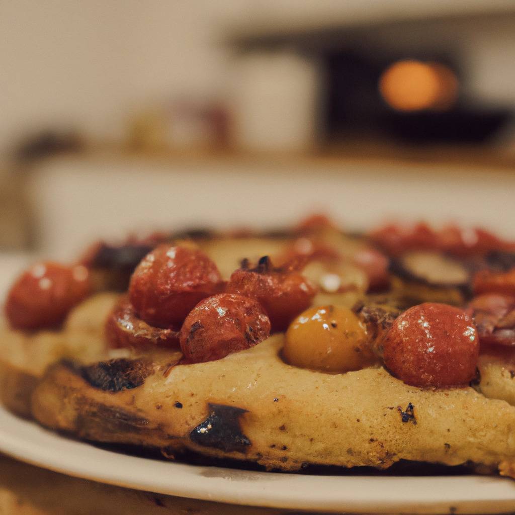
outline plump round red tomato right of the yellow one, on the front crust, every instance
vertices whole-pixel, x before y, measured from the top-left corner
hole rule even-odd
[[[411,386],[466,386],[476,373],[479,339],[472,319],[447,304],[410,307],[388,331],[384,362]]]

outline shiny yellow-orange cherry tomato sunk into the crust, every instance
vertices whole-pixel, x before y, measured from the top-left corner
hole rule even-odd
[[[326,305],[291,322],[283,357],[290,365],[324,372],[348,372],[371,365],[365,324],[347,307]]]

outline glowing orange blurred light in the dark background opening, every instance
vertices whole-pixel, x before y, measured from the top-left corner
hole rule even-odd
[[[379,80],[386,102],[399,111],[445,110],[456,101],[458,79],[439,63],[398,61]]]

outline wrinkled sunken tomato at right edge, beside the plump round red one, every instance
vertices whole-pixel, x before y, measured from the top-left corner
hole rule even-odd
[[[515,346],[515,297],[484,294],[469,303],[480,344]]]

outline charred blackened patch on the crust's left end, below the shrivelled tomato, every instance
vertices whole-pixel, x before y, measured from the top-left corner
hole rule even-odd
[[[153,374],[149,363],[141,359],[110,359],[80,367],[80,375],[85,381],[100,390],[118,392],[141,386]]]

